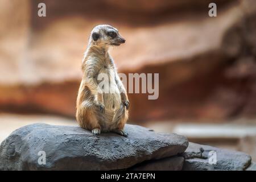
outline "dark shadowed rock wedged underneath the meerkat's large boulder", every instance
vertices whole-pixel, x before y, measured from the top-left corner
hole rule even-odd
[[[172,156],[170,158],[149,160],[134,167],[129,168],[131,171],[180,171],[183,167],[184,158]]]

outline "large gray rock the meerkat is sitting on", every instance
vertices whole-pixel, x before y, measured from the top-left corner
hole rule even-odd
[[[43,123],[15,130],[0,146],[0,170],[112,170],[145,160],[184,152],[187,138],[155,133],[145,127],[126,125],[127,138],[114,133],[94,136],[77,126]],[[39,151],[46,164],[39,164]]]

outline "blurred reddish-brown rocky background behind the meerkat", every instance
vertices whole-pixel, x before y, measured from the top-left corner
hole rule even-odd
[[[38,4],[46,3],[46,17]],[[0,0],[0,140],[34,122],[76,125],[81,61],[97,24],[117,27],[122,73],[159,73],[159,98],[129,94],[129,123],[256,160],[256,1]]]

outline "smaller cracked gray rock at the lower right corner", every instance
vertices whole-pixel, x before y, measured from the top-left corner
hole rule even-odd
[[[210,164],[212,155],[216,152],[216,164]],[[245,170],[251,163],[251,156],[243,152],[226,150],[189,142],[187,150],[183,154],[185,161],[183,170]]]

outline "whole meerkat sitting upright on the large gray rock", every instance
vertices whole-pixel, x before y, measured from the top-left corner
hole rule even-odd
[[[125,43],[117,28],[101,24],[93,28],[82,60],[82,81],[76,102],[76,119],[80,127],[92,131],[115,132],[127,137],[123,130],[128,119],[129,100],[108,49]],[[109,92],[99,86],[100,74],[108,79]]]

